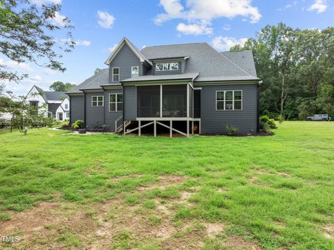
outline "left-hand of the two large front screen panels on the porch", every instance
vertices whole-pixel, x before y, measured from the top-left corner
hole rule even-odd
[[[137,86],[137,117],[160,117],[160,86]]]

